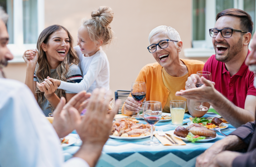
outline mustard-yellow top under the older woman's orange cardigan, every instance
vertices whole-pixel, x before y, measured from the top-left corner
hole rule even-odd
[[[186,98],[183,98],[181,96],[175,96],[175,93],[177,91],[183,90],[185,87],[185,82],[187,81],[188,72],[180,77],[175,77],[169,75],[164,68],[162,68],[162,78],[164,82],[164,86],[170,91],[167,102],[163,108],[164,113],[170,113],[170,101],[171,100],[183,100],[187,101]],[[185,112],[188,112],[187,106]]]

